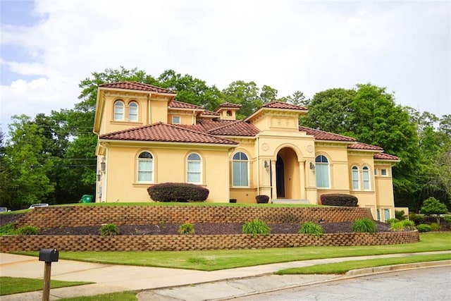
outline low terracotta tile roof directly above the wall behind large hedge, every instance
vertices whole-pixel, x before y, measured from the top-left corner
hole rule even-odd
[[[183,143],[206,143],[216,145],[237,145],[237,142],[201,133],[178,125],[166,123],[154,123],[138,128],[120,130],[118,132],[101,135],[105,140],[132,140],[153,142],[183,142]]]

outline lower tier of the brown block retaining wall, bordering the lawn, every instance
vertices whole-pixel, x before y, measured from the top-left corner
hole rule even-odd
[[[417,231],[323,234],[231,235],[4,235],[0,252],[39,251],[187,251],[267,247],[393,245],[419,242]]]

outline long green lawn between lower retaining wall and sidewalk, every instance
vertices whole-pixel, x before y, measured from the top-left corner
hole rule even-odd
[[[297,260],[451,250],[451,233],[424,233],[420,234],[420,238],[421,241],[415,243],[374,245],[371,247],[292,247],[261,250],[179,252],[60,252],[59,258],[103,264],[128,264],[215,271]],[[37,256],[38,252],[20,252],[20,254]]]

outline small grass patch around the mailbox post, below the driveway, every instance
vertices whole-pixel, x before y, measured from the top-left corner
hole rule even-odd
[[[35,290],[42,290],[44,286],[44,280],[33,278],[20,278],[20,277],[5,277],[0,276],[0,295],[11,295],[18,293],[33,292]],[[50,288],[66,288],[68,286],[90,284],[92,282],[82,281],[58,281],[51,280]]]

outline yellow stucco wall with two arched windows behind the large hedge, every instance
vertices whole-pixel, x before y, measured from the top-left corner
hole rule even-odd
[[[186,183],[187,156],[195,152],[202,157],[202,183],[209,189],[207,202],[228,202],[228,148],[183,147],[180,145],[142,145],[121,143],[107,147],[108,165],[98,185],[108,191],[102,192],[101,202],[146,202],[150,200],[147,188],[152,183],[137,182],[137,156],[147,151],[154,157],[154,183]]]

